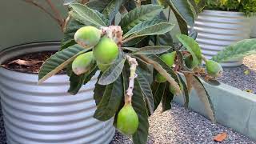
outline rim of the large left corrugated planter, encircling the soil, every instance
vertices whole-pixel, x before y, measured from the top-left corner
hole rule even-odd
[[[46,49],[42,49],[42,48],[40,48],[41,46],[50,46],[52,48],[52,50],[50,50],[50,47],[47,47]],[[21,45],[17,45],[17,46],[11,46],[9,48],[1,50],[0,51],[0,69],[4,69],[8,73],[13,73],[13,74],[30,74],[30,75],[37,76],[38,73],[30,73],[30,72],[25,72],[25,71],[20,71],[20,70],[8,69],[8,68],[2,66],[2,62],[5,62],[6,60],[8,60],[10,58],[14,58],[14,57],[17,57],[19,55],[22,55],[22,54],[14,54],[16,51],[20,51],[20,50],[24,50],[24,49],[31,50],[31,47],[34,47],[33,48],[34,51],[33,52],[27,52],[26,54],[42,52],[42,51],[56,51],[56,50],[58,50],[57,47],[54,47],[54,46],[60,46],[60,42],[59,41],[31,42],[31,43],[21,44]],[[21,49],[18,50],[18,48],[21,48]],[[6,55],[6,54],[14,54],[14,55],[10,56],[10,58],[3,58],[3,60],[2,60],[2,56]],[[66,74],[56,74],[56,76],[58,76],[58,75],[62,76],[62,75],[66,75]]]

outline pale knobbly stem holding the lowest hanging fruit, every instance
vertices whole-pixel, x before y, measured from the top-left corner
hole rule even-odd
[[[126,58],[130,64],[130,77],[129,77],[129,86],[126,90],[125,103],[131,104],[131,98],[133,97],[134,90],[134,79],[137,78],[136,68],[138,66],[138,62],[136,58],[130,57],[130,55],[126,55]]]

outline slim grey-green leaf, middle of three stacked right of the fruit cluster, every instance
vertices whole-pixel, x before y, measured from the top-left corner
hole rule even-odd
[[[135,32],[141,31],[149,26],[158,24],[163,22],[162,19],[158,19],[158,18],[154,18],[150,21],[146,21],[146,22],[140,22],[138,23],[138,25],[134,26],[132,29],[130,29],[126,34],[124,34],[123,38],[127,38],[130,36],[130,34],[134,34]]]

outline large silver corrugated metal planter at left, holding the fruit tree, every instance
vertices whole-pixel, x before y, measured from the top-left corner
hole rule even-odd
[[[58,50],[59,42],[15,46],[0,53],[0,63],[20,54]],[[113,119],[93,118],[96,77],[77,95],[66,93],[69,80],[58,74],[38,86],[38,74],[0,67],[0,91],[9,144],[102,144],[114,136]]]

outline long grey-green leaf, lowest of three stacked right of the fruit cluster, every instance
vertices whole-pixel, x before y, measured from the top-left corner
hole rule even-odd
[[[158,34],[165,34],[174,28],[174,24],[169,22],[160,22],[153,26],[148,26],[145,29],[142,29],[134,34],[131,34],[129,38],[126,38],[124,42],[130,41],[130,39],[138,38],[142,36],[148,35],[158,35]]]

